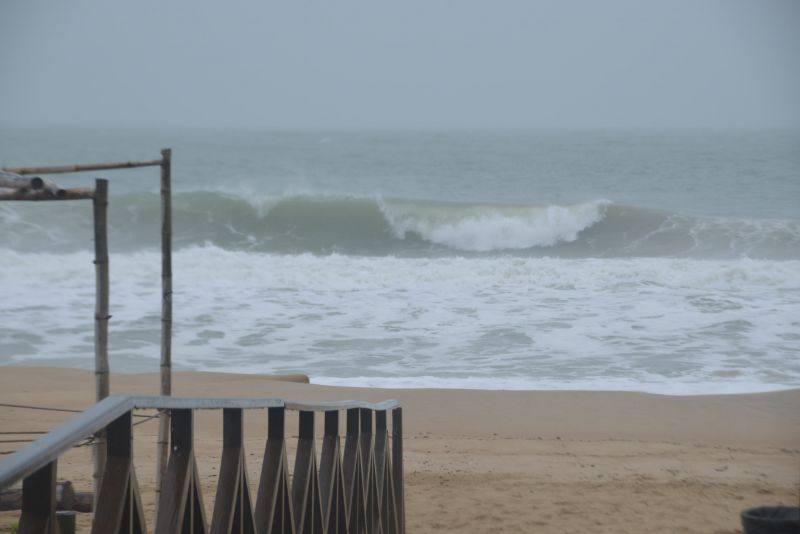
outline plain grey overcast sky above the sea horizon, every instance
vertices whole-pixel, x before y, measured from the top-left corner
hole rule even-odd
[[[0,125],[800,127],[798,0],[0,0]]]

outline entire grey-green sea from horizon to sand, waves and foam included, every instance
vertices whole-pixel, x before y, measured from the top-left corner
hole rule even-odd
[[[177,369],[319,384],[800,387],[800,133],[2,129],[173,149]],[[112,372],[157,372],[157,168],[110,181]],[[0,366],[91,369],[86,201],[0,202]],[[2,370],[0,369],[0,372]]]

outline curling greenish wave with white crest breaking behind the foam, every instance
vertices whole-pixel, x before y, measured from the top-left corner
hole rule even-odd
[[[91,209],[0,205],[0,246],[71,252],[91,246]],[[446,256],[800,259],[800,221],[691,217],[606,200],[571,205],[217,192],[173,197],[177,248],[211,244],[275,253]],[[112,249],[157,247],[157,195],[111,199]],[[43,245],[43,242],[45,243]]]

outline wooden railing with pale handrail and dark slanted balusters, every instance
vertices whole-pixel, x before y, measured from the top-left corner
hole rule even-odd
[[[156,534],[403,534],[402,408],[396,401],[299,403],[283,399],[108,397],[0,463],[0,489],[22,480],[20,534],[53,534],[58,457],[106,433],[106,460],[93,533],[147,532],[133,467],[135,409],[171,412],[170,455],[159,495]],[[194,412],[223,411],[223,448],[211,521],[194,451]],[[248,489],[243,410],[267,415],[258,492]],[[286,412],[298,413],[289,476]],[[344,448],[339,415],[346,414]],[[391,412],[391,429],[388,415]],[[324,415],[318,456],[315,417]],[[319,458],[319,462],[317,462]],[[210,525],[210,529],[209,529]]]

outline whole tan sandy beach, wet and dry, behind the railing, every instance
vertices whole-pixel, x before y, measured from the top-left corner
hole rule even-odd
[[[84,409],[93,400],[92,380],[85,371],[0,367],[0,403]],[[111,388],[115,394],[155,394],[157,384],[155,375],[115,375]],[[740,532],[743,508],[800,502],[800,390],[698,397],[376,390],[178,373],[174,393],[399,399],[409,533],[733,533]],[[0,430],[49,430],[69,416],[0,406]],[[246,417],[251,491],[265,423],[263,413]],[[203,412],[197,427],[210,514],[221,414]],[[136,427],[137,476],[150,512],[156,432],[154,421]],[[0,445],[0,451],[18,447]],[[59,478],[78,490],[91,487],[87,453],[76,449],[59,462]],[[0,513],[0,531],[16,517]],[[80,523],[88,524],[88,517]]]

